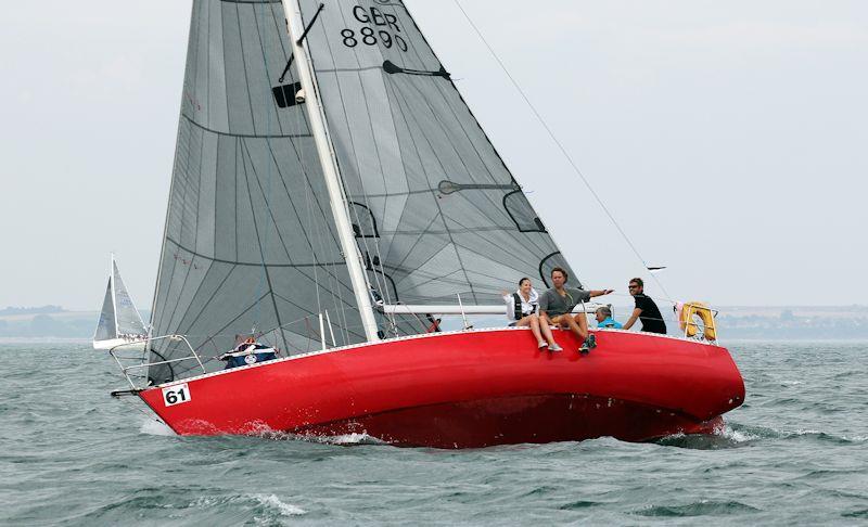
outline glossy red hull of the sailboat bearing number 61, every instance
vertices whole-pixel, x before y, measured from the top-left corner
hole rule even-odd
[[[366,433],[438,448],[707,433],[744,400],[726,348],[597,332],[579,355],[538,351],[531,332],[441,333],[339,348],[184,380],[190,400],[141,398],[183,435]]]

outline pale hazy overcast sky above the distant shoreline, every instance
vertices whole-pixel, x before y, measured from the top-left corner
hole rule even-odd
[[[868,2],[461,1],[673,297],[866,304]],[[582,279],[626,294],[640,262],[455,3],[407,5]],[[0,307],[98,309],[112,250],[150,307],[190,7],[4,5]]]

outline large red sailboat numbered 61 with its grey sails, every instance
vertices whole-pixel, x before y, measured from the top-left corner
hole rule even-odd
[[[399,0],[194,0],[146,354],[112,355],[191,435],[647,440],[741,404],[713,332],[592,330],[582,355],[438,330],[556,267],[575,277]]]

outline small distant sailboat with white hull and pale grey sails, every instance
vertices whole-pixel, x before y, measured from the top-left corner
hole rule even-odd
[[[108,285],[105,287],[105,298],[102,301],[100,321],[93,332],[93,349],[112,349],[124,346],[124,349],[144,349],[148,330],[141,314],[132,304],[117,270],[115,256],[112,255],[112,265],[108,274]]]

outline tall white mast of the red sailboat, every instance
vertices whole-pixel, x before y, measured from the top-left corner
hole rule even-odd
[[[349,220],[349,211],[346,207],[346,200],[343,191],[343,182],[337,168],[337,159],[334,155],[331,140],[329,139],[328,125],[320,104],[316,83],[314,81],[310,62],[307,55],[306,42],[298,42],[296,35],[301,36],[304,31],[302,21],[302,10],[297,0],[282,0],[283,11],[286,15],[286,28],[289,30],[290,43],[295,62],[298,68],[302,89],[305,93],[305,106],[310,121],[310,131],[317,146],[322,172],[326,178],[326,187],[329,191],[329,202],[331,204],[334,221],[337,227],[337,235],[341,241],[341,249],[346,260],[349,278],[353,282],[353,292],[356,295],[356,304],[359,308],[361,323],[365,327],[365,335],[368,340],[378,340],[376,320],[373,316],[371,297],[369,293],[368,279],[361,266],[361,255],[359,254],[353,234],[353,223]]]

